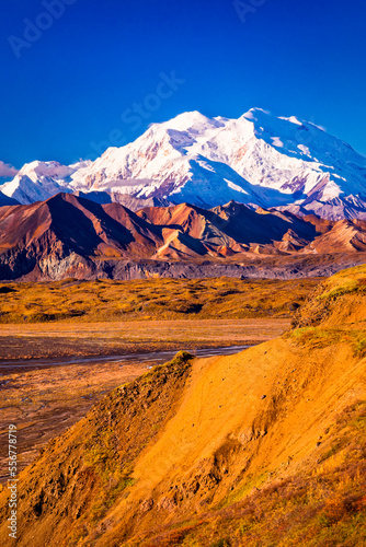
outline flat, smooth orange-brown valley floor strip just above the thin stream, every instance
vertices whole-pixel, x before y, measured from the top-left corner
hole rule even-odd
[[[288,326],[289,318],[1,325],[0,360],[253,345],[278,336]]]

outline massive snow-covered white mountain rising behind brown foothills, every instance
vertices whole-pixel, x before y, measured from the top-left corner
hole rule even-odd
[[[366,158],[296,117],[253,108],[239,119],[184,113],[87,164],[25,165],[1,191],[21,202],[107,191],[215,207],[233,199],[336,220],[366,218]]]

